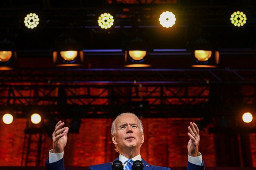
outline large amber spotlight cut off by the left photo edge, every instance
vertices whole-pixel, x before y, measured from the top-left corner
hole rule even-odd
[[[17,58],[16,47],[13,42],[3,40],[0,42],[0,66],[11,65]]]

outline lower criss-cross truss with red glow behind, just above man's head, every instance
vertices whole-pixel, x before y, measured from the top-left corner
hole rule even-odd
[[[245,91],[245,92],[241,92]],[[2,84],[0,113],[46,118],[115,117],[133,111],[143,117],[216,117],[255,105],[248,84]],[[254,107],[255,108],[255,107]]]

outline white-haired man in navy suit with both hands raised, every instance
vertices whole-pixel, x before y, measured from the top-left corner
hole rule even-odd
[[[49,151],[49,158],[46,160],[47,170],[64,170],[63,152],[67,143],[68,127],[64,122],[59,121],[53,133],[54,148]],[[203,170],[204,163],[201,153],[198,152],[200,141],[199,129],[195,123],[190,122],[187,135],[190,137],[187,144],[189,170]],[[143,170],[170,170],[166,167],[150,165],[141,158],[140,147],[144,142],[143,126],[141,120],[133,113],[122,113],[112,123],[112,141],[115,151],[119,152],[119,160],[123,163],[125,170],[130,170],[131,164],[140,160],[144,163]],[[112,170],[112,162],[99,165],[91,165],[89,170]]]

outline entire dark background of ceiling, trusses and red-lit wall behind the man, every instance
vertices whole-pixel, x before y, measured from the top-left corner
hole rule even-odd
[[[67,167],[110,162],[118,156],[111,122],[121,112],[134,112],[144,123],[141,154],[150,164],[185,167],[187,126],[195,121],[207,169],[256,167],[255,118],[241,121],[244,112],[256,116],[255,5],[251,0],[2,0],[0,40],[15,44],[17,60],[12,70],[0,69],[0,114],[14,114],[11,125],[0,124],[0,166],[44,166],[56,120],[72,129]],[[159,25],[166,10],[176,16],[171,28]],[[230,22],[237,10],[247,16],[242,27]],[[33,30],[23,23],[30,11],[40,18]],[[105,11],[115,25],[102,30],[97,17]],[[61,35],[81,43],[80,67],[53,63]],[[135,35],[151,43],[146,61],[151,67],[124,67],[121,49]],[[190,45],[200,36],[217,44],[217,68],[191,67]],[[96,49],[119,51],[88,51]],[[32,112],[42,114],[39,125],[28,119]]]

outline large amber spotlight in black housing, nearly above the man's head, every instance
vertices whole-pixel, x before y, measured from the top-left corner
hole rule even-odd
[[[151,65],[143,64],[149,56],[151,45],[143,39],[136,37],[127,41],[124,46],[125,67],[150,67]]]

